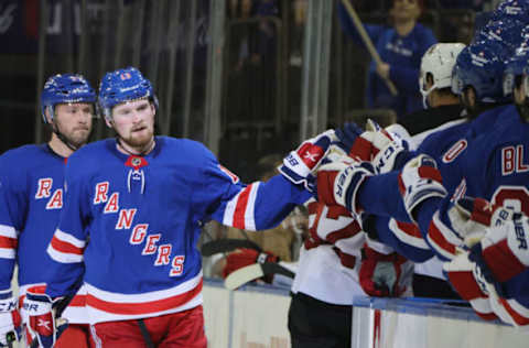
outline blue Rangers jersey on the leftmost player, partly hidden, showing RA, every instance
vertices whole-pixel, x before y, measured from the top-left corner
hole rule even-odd
[[[65,162],[47,144],[0,156],[0,290],[10,287],[17,262],[21,301],[29,287],[45,284],[53,263],[46,248],[63,207]],[[86,323],[83,306],[84,296],[75,296],[65,317]]]

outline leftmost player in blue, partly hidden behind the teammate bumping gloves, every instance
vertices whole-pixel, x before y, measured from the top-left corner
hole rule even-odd
[[[24,145],[0,156],[0,346],[21,334],[11,278],[18,264],[19,300],[28,289],[46,283],[52,263],[46,248],[63,207],[64,168],[67,157],[90,134],[96,93],[80,75],[55,75],[42,91],[42,117],[52,130],[51,140]],[[88,347],[88,326],[79,294],[65,311],[72,324],[56,347]],[[28,314],[22,308],[23,323]],[[83,325],[85,324],[85,325]],[[31,338],[28,335],[28,344]]]

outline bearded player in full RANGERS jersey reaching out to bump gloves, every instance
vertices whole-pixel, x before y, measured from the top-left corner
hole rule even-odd
[[[212,218],[247,230],[279,224],[311,196],[307,177],[334,132],[292,151],[282,174],[244,185],[201,143],[155,137],[156,102],[136,68],[102,78],[99,105],[116,138],[68,160],[46,294],[28,297],[35,319],[54,323],[53,304],[83,278],[93,337],[102,346],[206,347],[202,226]],[[53,345],[53,328],[36,330]]]

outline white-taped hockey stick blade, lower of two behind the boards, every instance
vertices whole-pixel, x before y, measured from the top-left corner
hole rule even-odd
[[[269,274],[282,274],[289,278],[294,278],[295,275],[294,272],[276,262],[253,263],[231,272],[224,280],[224,286],[228,290],[236,290],[246,283]]]

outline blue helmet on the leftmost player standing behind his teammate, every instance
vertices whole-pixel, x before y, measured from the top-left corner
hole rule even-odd
[[[41,94],[41,111],[44,123],[47,123],[46,109],[53,120],[55,106],[68,102],[95,104],[96,91],[80,75],[57,74],[50,77]]]

